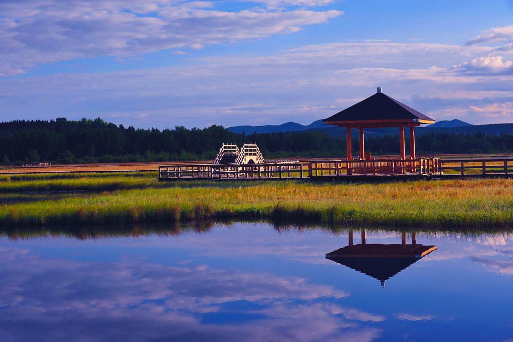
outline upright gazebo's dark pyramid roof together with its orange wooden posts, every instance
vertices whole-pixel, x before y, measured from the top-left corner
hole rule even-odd
[[[351,155],[351,128],[360,130],[360,160],[365,160],[363,131],[365,128],[399,127],[400,158],[404,160],[404,128],[410,130],[410,158],[415,156],[415,131],[416,126],[431,124],[435,120],[425,116],[421,112],[408,107],[387,96],[378,87],[378,92],[371,97],[346,108],[337,114],[324,119],[325,125],[346,127],[347,130],[347,159],[352,160]]]

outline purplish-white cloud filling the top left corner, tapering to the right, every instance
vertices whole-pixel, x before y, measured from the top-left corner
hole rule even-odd
[[[0,76],[44,63],[134,56],[260,39],[326,23],[341,11],[215,10],[211,2],[28,0],[0,3]]]

